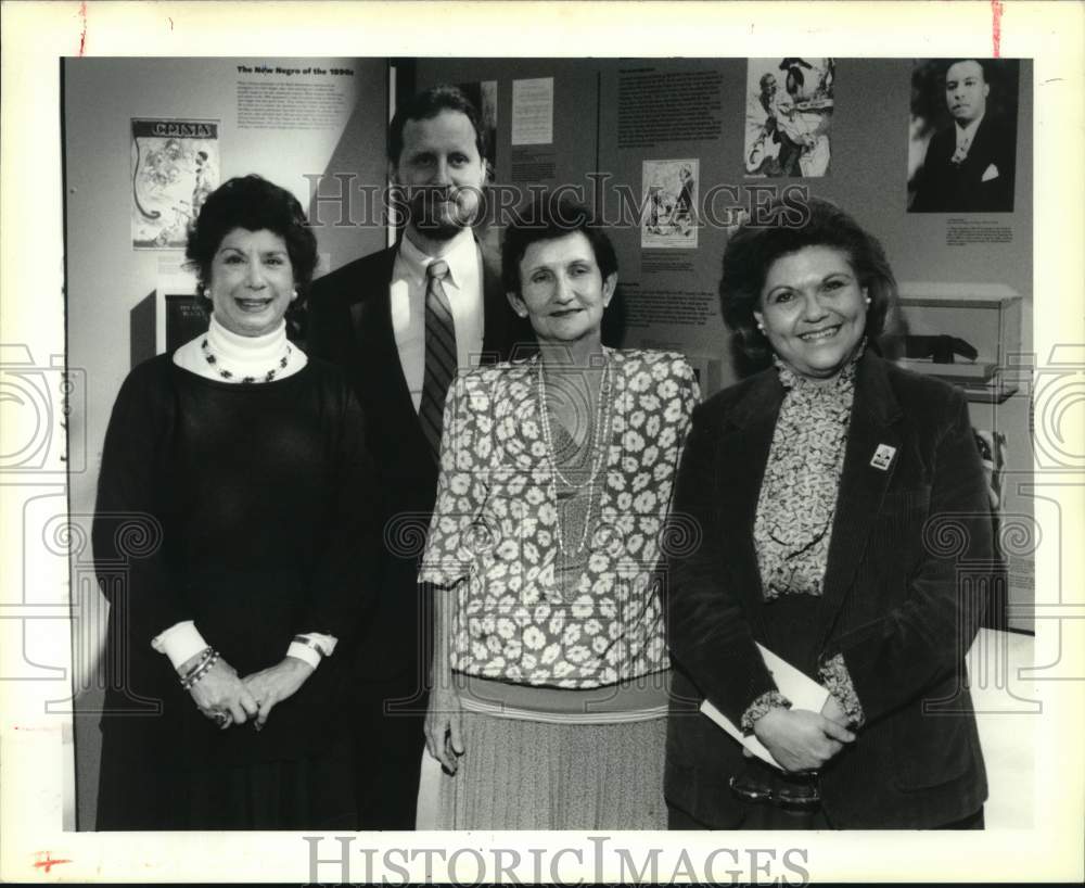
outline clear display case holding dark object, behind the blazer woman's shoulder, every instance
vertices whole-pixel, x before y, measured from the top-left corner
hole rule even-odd
[[[1000,283],[899,284],[903,367],[965,390],[970,401],[1001,403],[1017,391],[1021,296]]]

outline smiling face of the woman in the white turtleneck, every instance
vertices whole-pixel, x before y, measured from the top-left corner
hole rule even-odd
[[[234,228],[212,259],[207,294],[216,320],[231,333],[271,332],[295,299],[286,242],[267,229]]]

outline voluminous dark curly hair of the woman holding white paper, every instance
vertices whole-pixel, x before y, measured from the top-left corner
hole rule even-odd
[[[830,246],[847,256],[860,287],[870,297],[866,334],[876,351],[885,317],[896,303],[896,278],[878,239],[834,203],[809,198],[805,220],[795,218],[794,204],[775,204],[768,225],[746,223],[724,250],[724,274],[719,281],[719,305],[724,322],[735,333],[750,368],[765,367],[771,359],[768,340],[757,329],[753,313],[761,308],[761,291],[773,263],[806,246]],[[790,215],[789,215],[790,214]],[[795,224],[799,221],[799,224]]]

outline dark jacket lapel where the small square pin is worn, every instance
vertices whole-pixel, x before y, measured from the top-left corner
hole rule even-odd
[[[852,587],[873,519],[896,469],[897,456],[885,469],[871,465],[871,458],[883,444],[899,452],[901,434],[894,423],[901,416],[902,410],[889,384],[884,364],[881,358],[866,354],[859,361],[855,380],[855,402],[847,429],[844,468],[818,617],[817,649],[829,637],[837,613]]]

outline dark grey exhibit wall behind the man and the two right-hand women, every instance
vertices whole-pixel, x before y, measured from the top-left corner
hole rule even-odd
[[[755,71],[775,69],[781,88],[781,60],[764,60]],[[692,245],[644,246],[639,220],[618,212],[620,191],[644,196],[646,176],[658,162],[697,163],[700,196],[733,186],[737,200],[750,206],[751,188],[799,186],[835,201],[881,241],[902,291],[934,290],[948,297],[1008,288],[1021,296],[1020,344],[1031,352],[1033,310],[1032,63],[1020,62],[1017,77],[1017,144],[1013,212],[908,212],[909,135],[912,128],[912,59],[834,60],[830,141],[831,162],[817,178],[751,178],[744,166],[748,104],[756,77],[745,59],[525,60],[421,59],[417,87],[441,83],[494,80],[497,85],[497,163],[495,180],[550,188],[579,186],[585,200],[607,218],[620,219],[610,233],[618,257],[627,324],[622,344],[676,348],[701,371],[702,388],[714,391],[732,382],[737,370],[730,338],[716,297],[726,230],[702,217]],[[518,80],[552,78],[552,142],[513,145],[513,91]],[[936,86],[935,102],[944,102]],[[1003,97],[1013,104],[1014,97]],[[915,149],[912,149],[915,151]],[[532,176],[546,168],[549,175]],[[534,161],[534,164],[524,163]],[[647,162],[647,163],[646,163]],[[648,167],[648,168],[646,168]],[[587,173],[596,178],[586,178]],[[605,187],[598,187],[599,176]],[[717,212],[719,221],[725,214]],[[1037,299],[1043,299],[1038,295]],[[915,309],[909,309],[915,310]],[[990,310],[987,309],[988,314]],[[907,320],[907,318],[906,318]],[[922,326],[923,319],[910,322]],[[972,326],[991,324],[984,316]],[[969,321],[963,321],[966,328]],[[1012,326],[1012,324],[1010,325]],[[994,343],[987,343],[993,347]],[[1003,356],[1012,360],[1013,356]],[[1025,358],[1027,360],[1027,358]],[[1032,428],[1027,385],[1000,403],[970,403],[973,426],[1006,437],[1005,495],[1009,524],[1024,529],[1027,542],[1007,550],[1009,625],[1032,631],[1034,621],[1034,529]],[[1050,544],[1048,544],[1050,545]]]

